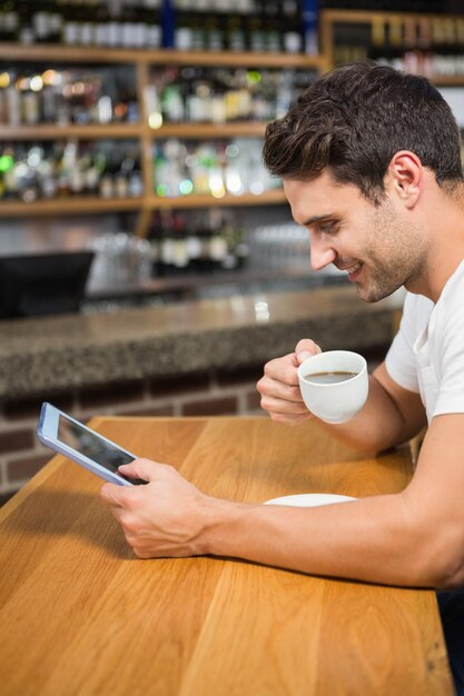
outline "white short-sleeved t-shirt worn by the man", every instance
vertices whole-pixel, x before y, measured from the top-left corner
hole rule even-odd
[[[428,422],[440,414],[464,412],[464,261],[436,305],[406,295],[385,362],[392,379],[421,394]]]

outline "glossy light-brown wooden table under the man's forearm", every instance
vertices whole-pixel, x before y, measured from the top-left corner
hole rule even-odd
[[[407,449],[363,459],[313,425],[98,418],[205,491],[401,490]],[[453,693],[435,595],[209,557],[139,560],[57,456],[0,510],[1,696]]]

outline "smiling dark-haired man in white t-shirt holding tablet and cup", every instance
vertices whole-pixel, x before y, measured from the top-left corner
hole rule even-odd
[[[369,378],[365,407],[347,424],[322,424],[371,451],[427,424],[407,488],[320,508],[250,506],[213,499],[172,468],[139,459],[121,470],[148,486],[106,485],[101,493],[139,557],[213,554],[374,583],[464,585],[460,150],[456,122],[427,80],[371,62],[317,80],[266,132],[265,162],[308,229],[313,268],[345,270],[368,302],[408,290],[401,331]],[[258,389],[275,420],[312,417],[297,367],[318,350],[302,340],[266,365]]]

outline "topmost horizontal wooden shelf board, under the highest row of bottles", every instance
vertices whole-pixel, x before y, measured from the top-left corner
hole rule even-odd
[[[106,49],[95,47],[70,47],[43,43],[40,46],[20,46],[13,42],[0,43],[0,59],[20,62],[60,62],[60,63],[144,63],[177,66],[237,66],[261,68],[314,68],[320,70],[323,56],[304,53],[255,53],[231,51],[177,51]]]

